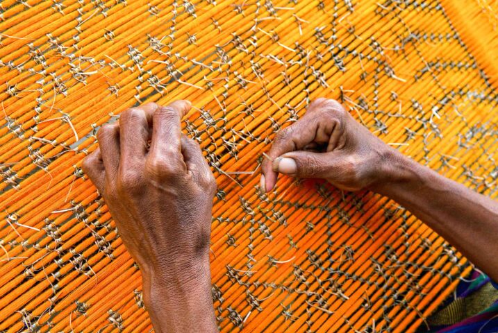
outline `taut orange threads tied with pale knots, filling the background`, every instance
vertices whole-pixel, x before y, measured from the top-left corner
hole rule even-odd
[[[189,99],[217,178],[222,332],[413,332],[470,263],[396,203],[281,177],[277,130],[319,96],[488,196],[498,177],[498,3],[0,2],[0,332],[149,332],[138,267],[81,170],[99,126]],[[167,316],[167,314],[165,314]]]

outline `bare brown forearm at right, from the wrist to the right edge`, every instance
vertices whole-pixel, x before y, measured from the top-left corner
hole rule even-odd
[[[498,280],[498,203],[407,157],[392,160],[390,177],[372,189],[406,207]]]

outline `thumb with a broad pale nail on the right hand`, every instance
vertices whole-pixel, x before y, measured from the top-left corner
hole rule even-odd
[[[299,178],[329,178],[331,171],[338,167],[338,153],[313,153],[310,151],[293,151],[277,157],[272,169]]]

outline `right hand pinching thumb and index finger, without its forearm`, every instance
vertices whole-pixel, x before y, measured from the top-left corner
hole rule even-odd
[[[283,128],[263,162],[261,187],[271,191],[278,173],[324,178],[347,191],[374,189],[392,180],[404,157],[360,125],[338,101],[313,101],[299,121]],[[271,159],[271,160],[270,160]]]

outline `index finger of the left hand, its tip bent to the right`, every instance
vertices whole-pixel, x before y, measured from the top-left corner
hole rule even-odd
[[[174,101],[159,107],[152,116],[151,154],[177,158],[181,153],[180,121],[190,110],[189,101]]]

